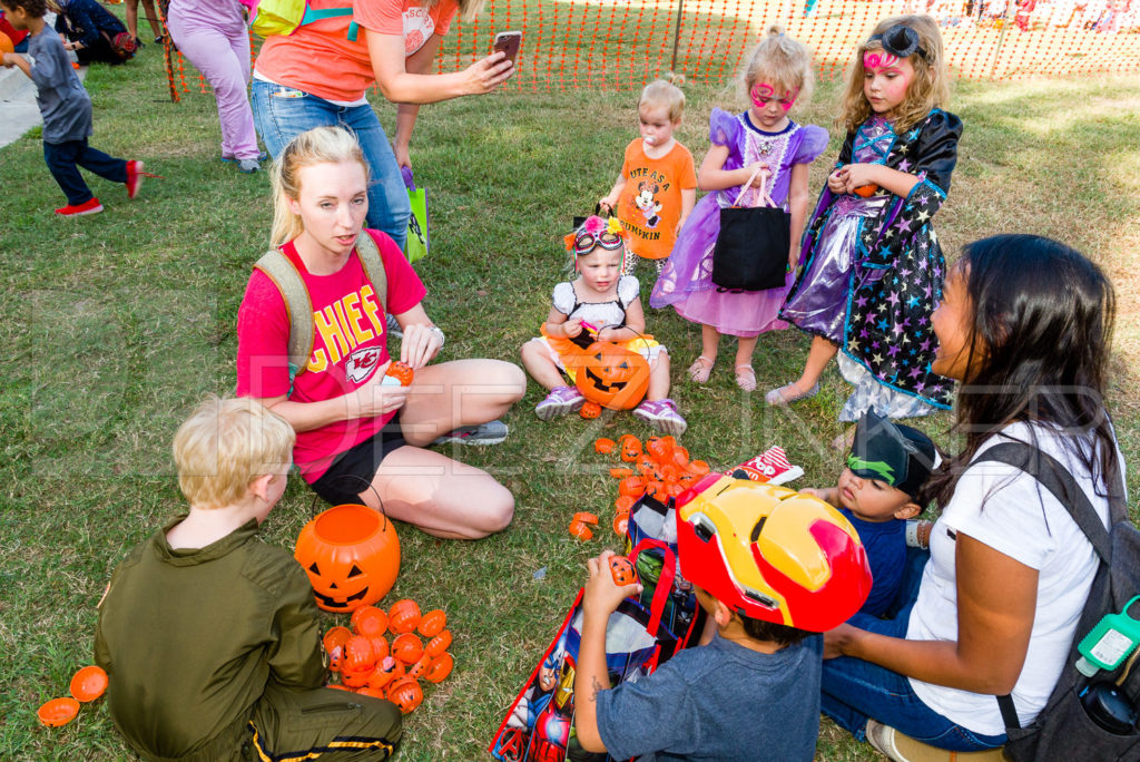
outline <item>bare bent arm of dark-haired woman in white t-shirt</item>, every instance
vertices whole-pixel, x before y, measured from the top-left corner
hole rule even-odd
[[[1029,649],[1037,570],[958,533],[958,641],[888,638],[840,625],[825,656],[854,656],[899,674],[1001,696],[1017,683]]]

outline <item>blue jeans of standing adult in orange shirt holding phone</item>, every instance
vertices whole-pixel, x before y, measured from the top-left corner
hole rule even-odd
[[[258,133],[274,159],[290,140],[315,127],[340,125],[357,136],[372,173],[368,227],[383,230],[402,250],[408,238],[412,205],[396,154],[372,106],[337,106],[302,90],[258,79],[253,80],[251,91]]]

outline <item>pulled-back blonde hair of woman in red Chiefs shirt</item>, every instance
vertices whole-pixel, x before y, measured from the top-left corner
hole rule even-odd
[[[296,201],[301,193],[300,172],[314,164],[337,164],[355,161],[364,167],[364,177],[369,179],[368,162],[356,136],[343,127],[316,127],[302,132],[285,146],[280,156],[269,167],[269,180],[274,189],[274,227],[269,244],[275,249],[304,233],[301,217],[288,208],[288,201]]]

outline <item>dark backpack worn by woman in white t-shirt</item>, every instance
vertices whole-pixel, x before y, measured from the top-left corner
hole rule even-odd
[[[982,461],[1008,463],[1033,476],[1068,509],[1100,557],[1089,600],[1069,648],[1068,662],[1041,714],[1023,728],[1013,699],[1010,696],[997,697],[1009,739],[1005,756],[1013,762],[1140,760],[1140,729],[1135,718],[1135,711],[1140,708],[1140,667],[1132,668],[1137,659],[1126,659],[1114,672],[1101,671],[1092,678],[1081,674],[1075,666],[1081,656],[1076,648],[1081,640],[1106,614],[1124,610],[1129,601],[1140,594],[1140,532],[1129,520],[1123,475],[1117,472],[1117,483],[1110,491],[1110,522],[1106,530],[1073,475],[1047,453],[1023,443],[1003,443],[987,449],[976,462]],[[1131,615],[1140,618],[1135,609],[1140,609],[1140,605],[1133,607]],[[1109,691],[1110,688],[1114,690]],[[1090,715],[1083,702],[1092,704],[1094,698],[1101,707],[1114,705],[1117,716],[1121,708],[1126,711],[1131,705],[1131,722],[1117,728],[1123,732],[1107,730]]]

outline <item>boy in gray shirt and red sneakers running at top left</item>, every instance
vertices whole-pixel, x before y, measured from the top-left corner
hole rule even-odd
[[[27,54],[34,63],[14,52],[3,54],[6,68],[16,66],[35,83],[35,102],[43,117],[43,159],[67,195],[67,205],[56,210],[62,217],[95,214],[103,204],[87,187],[79,168],[83,167],[112,183],[127,185],[127,196],[138,195],[144,177],[142,162],[123,161],[96,151],[87,144],[91,136],[91,98],[79,81],[59,37],[43,21],[44,0],[0,0],[8,22],[27,30]]]

